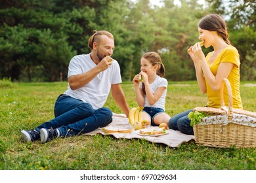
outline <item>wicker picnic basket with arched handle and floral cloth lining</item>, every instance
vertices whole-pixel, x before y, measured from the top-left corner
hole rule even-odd
[[[223,88],[226,84],[228,90],[228,108],[224,106]],[[256,147],[256,112],[249,112],[232,107],[232,90],[228,79],[224,78],[220,89],[221,108],[196,107],[194,111],[205,112],[213,115],[206,124],[194,125],[194,136],[197,144],[218,148]],[[238,115],[242,116],[242,119]],[[222,120],[221,123],[214,123],[212,120]],[[224,120],[226,119],[226,120]],[[245,120],[249,122],[245,122]],[[247,120],[249,119],[249,120]],[[203,119],[201,120],[201,122]]]

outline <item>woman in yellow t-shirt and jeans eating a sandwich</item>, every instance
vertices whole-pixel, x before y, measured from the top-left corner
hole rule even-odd
[[[240,59],[238,50],[231,46],[228,40],[226,22],[218,14],[208,14],[198,23],[199,39],[205,48],[213,46],[213,52],[205,57],[200,43],[194,44],[188,49],[188,54],[194,62],[196,78],[202,93],[207,93],[208,103],[205,107],[221,107],[219,90],[223,78],[228,78],[233,95],[233,107],[242,108],[240,97]],[[228,105],[228,93],[224,91],[225,105]],[[168,126],[179,130],[181,133],[194,135],[190,126],[187,110],[173,116]]]

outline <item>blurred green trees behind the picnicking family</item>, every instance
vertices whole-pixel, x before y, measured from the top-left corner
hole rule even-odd
[[[200,18],[217,12],[240,52],[242,80],[255,80],[255,1],[205,1],[163,0],[158,7],[149,0],[0,0],[0,79],[66,80],[70,59],[89,53],[93,30],[105,29],[115,36],[123,80],[139,72],[148,51],[159,52],[169,81],[195,80],[186,50],[198,41]]]

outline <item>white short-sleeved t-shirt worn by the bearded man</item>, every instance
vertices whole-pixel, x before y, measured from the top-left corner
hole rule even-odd
[[[68,67],[68,78],[73,75],[87,73],[94,67],[96,67],[96,64],[91,59],[90,54],[74,56]],[[117,61],[113,60],[108,69],[98,73],[87,85],[77,90],[71,90],[68,85],[68,90],[64,94],[80,99],[91,104],[94,109],[98,109],[106,103],[111,85],[119,83],[121,83],[120,67]]]

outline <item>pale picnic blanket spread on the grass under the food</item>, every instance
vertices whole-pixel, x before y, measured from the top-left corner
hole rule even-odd
[[[113,122],[108,126],[119,127],[119,128],[129,128],[129,120],[126,118],[125,114],[116,114],[113,113]],[[95,131],[91,131],[90,133],[85,133],[85,135],[96,135],[100,133],[102,135],[113,135],[117,139],[125,138],[125,139],[146,139],[147,141],[154,143],[162,143],[170,146],[172,148],[178,147],[182,142],[188,142],[194,140],[194,135],[185,135],[180,131],[175,131],[173,129],[168,129],[166,135],[161,135],[158,137],[152,136],[142,136],[133,131],[133,133],[104,133],[101,128],[96,129]]]

